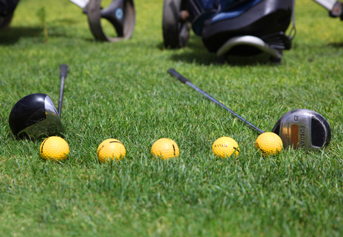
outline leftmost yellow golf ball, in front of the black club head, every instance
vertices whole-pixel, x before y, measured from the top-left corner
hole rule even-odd
[[[44,160],[62,161],[69,155],[68,143],[59,136],[50,136],[43,140],[39,148],[40,157]]]

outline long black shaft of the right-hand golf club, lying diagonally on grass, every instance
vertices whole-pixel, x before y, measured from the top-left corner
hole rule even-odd
[[[256,127],[255,125],[253,125],[252,123],[246,121],[246,119],[242,118],[241,116],[239,116],[238,114],[236,114],[235,112],[233,112],[233,110],[230,110],[229,108],[227,108],[225,105],[223,105],[222,103],[220,103],[220,101],[217,101],[216,99],[214,99],[213,97],[211,97],[211,95],[207,94],[206,92],[204,92],[203,90],[201,90],[200,88],[198,88],[198,86],[195,86],[194,84],[192,84],[189,79],[187,79],[186,77],[183,77],[182,75],[180,75],[180,73],[178,73],[177,71],[175,71],[174,68],[169,68],[168,72],[173,75],[174,77],[176,77],[177,79],[180,80],[180,82],[182,82],[183,84],[187,84],[188,86],[191,86],[191,88],[193,88],[194,90],[200,92],[202,95],[204,95],[204,97],[206,97],[207,99],[213,101],[214,103],[216,103],[217,105],[222,106],[222,108],[224,108],[225,110],[227,110],[228,112],[230,112],[231,114],[235,115],[237,118],[239,118],[241,121],[243,121],[244,123],[246,123],[249,127],[251,127],[252,129],[255,129],[257,132],[259,132],[260,134],[263,134],[263,130],[259,129],[258,127]]]

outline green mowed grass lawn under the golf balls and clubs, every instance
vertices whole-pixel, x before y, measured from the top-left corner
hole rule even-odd
[[[21,0],[0,32],[0,235],[342,236],[343,22],[296,1],[297,35],[281,65],[218,65],[194,34],[185,49],[163,47],[162,0],[134,3],[134,34],[123,42],[96,42],[67,0]],[[47,162],[41,140],[17,140],[8,116],[36,92],[57,107],[63,63],[70,153]],[[290,110],[315,110],[331,143],[263,157],[257,132],[171,77],[171,67],[265,131]],[[237,158],[211,153],[222,136],[238,142]],[[123,142],[125,159],[99,164],[107,138]],[[180,157],[152,158],[158,138],[176,141]]]

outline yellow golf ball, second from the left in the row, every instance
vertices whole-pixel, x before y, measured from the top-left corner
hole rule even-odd
[[[110,162],[111,160],[121,160],[126,155],[126,149],[117,139],[106,139],[97,147],[97,158],[99,162]]]

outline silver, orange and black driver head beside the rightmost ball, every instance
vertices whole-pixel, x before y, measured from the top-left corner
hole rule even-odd
[[[276,122],[272,132],[280,136],[284,149],[293,147],[317,151],[331,140],[327,120],[317,112],[306,109],[287,112]]]

